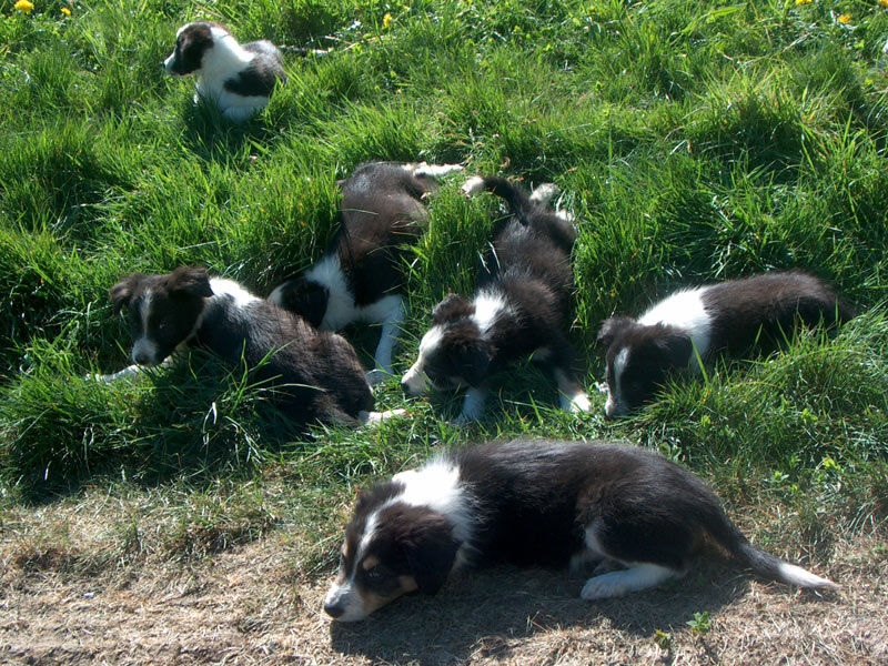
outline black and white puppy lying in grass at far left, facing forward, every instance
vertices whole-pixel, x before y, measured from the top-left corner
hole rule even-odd
[[[135,365],[100,380],[130,376],[200,345],[233,367],[245,364],[297,423],[354,425],[391,415],[371,412],[373,393],[345,339],[315,331],[232,280],[180,266],[165,275],[128,275],[110,295],[117,310],[128,309]]]

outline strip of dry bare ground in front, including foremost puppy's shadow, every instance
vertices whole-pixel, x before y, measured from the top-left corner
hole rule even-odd
[[[622,599],[581,578],[497,568],[401,599],[366,622],[325,619],[325,579],[294,574],[280,533],[198,564],[89,575],[3,559],[0,663],[888,664],[888,563],[875,536],[835,544],[842,584],[818,597],[704,565]],[[708,613],[706,633],[686,623]]]

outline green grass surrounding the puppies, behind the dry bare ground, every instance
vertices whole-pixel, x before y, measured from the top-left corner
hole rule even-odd
[[[442,445],[526,433],[658,448],[734,515],[779,507],[745,524],[779,553],[828,562],[830,531],[885,537],[888,10],[877,2],[34,4],[0,6],[4,562],[89,576],[294,535],[291,572],[322,581],[356,488]],[[175,29],[195,18],[329,53],[286,53],[287,85],[232,125],[191,103],[192,81],[161,72]],[[561,413],[529,365],[498,384],[477,426],[447,423],[457,400],[406,400],[393,380],[377,404],[411,418],[303,435],[262,387],[203,354],[134,383],[83,379],[127,363],[107,297],[121,275],[204,264],[265,294],[323,251],[335,179],[375,159],[562,188],[581,230],[573,337],[593,393],[599,323],[679,285],[805,268],[865,314],[835,337],[722,363],[617,422],[597,394],[592,414]],[[496,214],[457,180],[430,210],[407,268],[400,370],[434,304],[474,287]],[[347,332],[367,363],[376,333]],[[117,506],[108,521],[83,517],[103,515],[97,495]]]

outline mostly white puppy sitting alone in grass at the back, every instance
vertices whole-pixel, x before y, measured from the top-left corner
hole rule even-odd
[[[198,95],[219,105],[233,121],[252,117],[269,103],[278,81],[286,82],[281,51],[270,41],[239,44],[220,23],[188,23],[175,34],[175,49],[163,69],[168,74],[198,75]]]

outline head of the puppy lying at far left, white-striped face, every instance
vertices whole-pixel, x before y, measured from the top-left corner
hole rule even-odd
[[[110,295],[115,311],[127,307],[133,363],[158,365],[194,333],[213,291],[205,269],[180,266],[167,275],[128,275]]]

